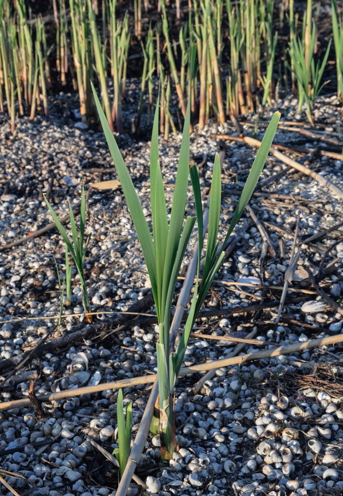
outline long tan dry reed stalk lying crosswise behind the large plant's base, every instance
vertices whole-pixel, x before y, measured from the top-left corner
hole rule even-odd
[[[193,374],[196,372],[205,372],[212,369],[230,367],[232,365],[237,365],[237,364],[241,365],[245,362],[252,362],[255,360],[263,360],[265,358],[278,357],[279,355],[288,355],[290,353],[296,353],[298,351],[310,350],[312,348],[319,348],[320,346],[333,345],[342,342],[343,342],[343,334],[328,336],[326,338],[309,339],[308,341],[303,341],[301,343],[294,343],[288,346],[279,346],[277,348],[272,348],[269,350],[247,353],[246,355],[240,355],[239,357],[224,358],[222,360],[216,360],[204,364],[192,365],[191,367],[185,367],[180,370],[179,377],[183,377],[184,375]],[[97,384],[95,386],[79,387],[77,389],[67,389],[65,391],[60,391],[58,393],[40,395],[38,396],[38,399],[40,401],[49,402],[58,399],[71,398],[73,396],[80,396],[82,394],[90,394],[99,391],[104,391],[105,389],[119,389],[120,387],[123,388],[123,387],[137,386],[139,384],[149,384],[154,382],[156,377],[157,374],[143,375],[141,377],[122,379],[115,382]],[[28,398],[24,398],[21,400],[6,401],[4,403],[0,403],[0,410],[11,410],[13,408],[20,408],[23,406],[27,406],[29,404],[30,404],[30,400]],[[152,406],[153,405],[154,403],[152,403]]]

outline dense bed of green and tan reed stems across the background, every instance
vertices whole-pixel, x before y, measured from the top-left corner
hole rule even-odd
[[[290,91],[313,123],[316,97],[329,79],[330,91],[342,101],[342,9],[342,1],[331,1],[324,37],[320,2],[312,0],[50,0],[44,11],[38,1],[2,0],[0,112],[8,113],[14,133],[19,116],[49,117],[49,93],[75,91],[82,122],[91,124],[97,121],[92,80],[111,130],[123,133],[132,125],[139,132],[143,114],[152,125],[161,78],[160,131],[166,139],[170,130],[177,132],[171,99],[177,95],[185,117],[189,92],[192,124],[199,128],[209,119],[223,124],[230,114],[261,113],[280,92]],[[135,122],[124,123],[132,75],[140,79],[140,97]]]

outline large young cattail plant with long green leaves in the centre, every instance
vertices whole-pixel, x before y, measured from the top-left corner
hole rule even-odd
[[[193,50],[192,67],[194,67],[195,55],[196,52]],[[220,252],[217,256],[217,248],[219,245],[217,235],[220,218],[221,196],[221,171],[219,157],[218,155],[216,156],[213,170],[209,207],[209,229],[202,281],[200,286],[198,286],[201,259],[201,249],[199,249],[194,298],[185,329],[181,335],[177,350],[174,352],[174,349],[170,349],[169,347],[171,307],[177,277],[196,222],[195,217],[187,217],[184,223],[190,174],[190,99],[187,105],[169,222],[162,174],[158,159],[158,105],[155,111],[150,151],[150,200],[152,217],[151,236],[139,197],[135,190],[135,186],[133,185],[132,179],[120,154],[118,145],[116,144],[114,136],[106,121],[95,90],[93,89],[93,91],[96,98],[100,122],[102,124],[109,150],[111,152],[145,257],[152,293],[154,296],[159,327],[159,339],[156,344],[156,352],[159,390],[159,423],[163,441],[161,443],[161,455],[163,459],[170,459],[176,449],[175,425],[173,419],[173,389],[178,372],[180,371],[182,365],[188,339],[196,319],[196,314],[204,301],[224,254],[223,252]],[[266,131],[230,224],[229,231],[225,237],[224,245],[240,219],[254,187],[256,186],[257,180],[268,155],[279,119],[280,114],[276,113]],[[191,168],[191,180],[196,201],[198,239],[201,246],[203,239],[202,205],[199,176],[196,167]]]

